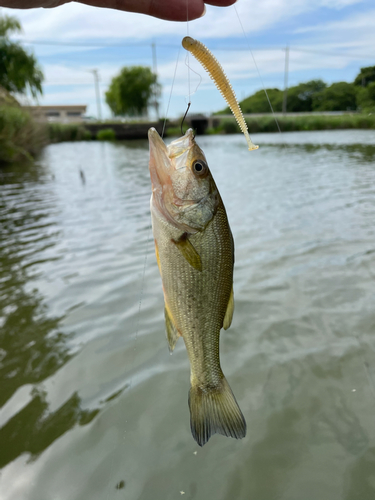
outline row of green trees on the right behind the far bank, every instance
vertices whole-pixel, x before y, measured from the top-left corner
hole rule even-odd
[[[275,112],[281,112],[284,91],[267,89]],[[243,113],[270,113],[270,105],[263,90],[240,102]],[[375,66],[361,68],[352,83],[336,82],[327,85],[323,80],[311,80],[289,87],[287,91],[287,112],[312,111],[361,111],[375,112]],[[229,108],[217,114],[229,114]]]

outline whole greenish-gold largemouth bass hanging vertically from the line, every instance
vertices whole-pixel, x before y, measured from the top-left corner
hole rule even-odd
[[[150,142],[151,216],[164,291],[170,351],[184,339],[189,356],[190,427],[203,446],[218,433],[237,439],[246,422],[220,367],[221,328],[233,316],[234,244],[227,214],[193,130],[168,147]]]

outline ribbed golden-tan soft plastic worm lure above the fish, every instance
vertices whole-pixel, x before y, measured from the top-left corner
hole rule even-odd
[[[253,144],[249,136],[249,131],[245,119],[243,117],[241,108],[238,104],[232,85],[228,80],[227,75],[224,73],[221,64],[216,59],[216,57],[208,50],[208,48],[203,45],[199,40],[194,40],[190,36],[185,36],[182,40],[182,46],[184,49],[188,50],[193,54],[193,56],[201,63],[204,69],[208,72],[211,79],[215,82],[216,87],[220,90],[221,95],[227,101],[234,117],[246,137],[247,144],[249,146],[249,151],[253,149],[258,149],[259,146]]]

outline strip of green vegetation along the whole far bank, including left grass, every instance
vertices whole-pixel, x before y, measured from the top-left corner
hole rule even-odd
[[[313,130],[375,130],[375,114],[345,113],[341,115],[296,113],[277,116],[281,132]],[[142,122],[145,125],[145,122]],[[159,123],[164,124],[164,120]],[[181,120],[167,120],[165,136],[180,136]],[[272,114],[246,117],[250,134],[278,132]],[[216,115],[214,126],[207,127],[200,135],[226,135],[241,133],[234,117]],[[0,164],[12,163],[22,159],[32,160],[50,143],[90,140],[116,140],[115,129],[119,122],[97,123],[100,130],[95,133],[85,127],[85,123],[38,123],[21,106],[0,102]],[[137,127],[139,123],[127,123],[127,127]],[[151,124],[150,124],[151,126]],[[152,124],[154,126],[154,124]],[[114,128],[112,128],[114,127]],[[194,124],[193,124],[194,128]],[[184,127],[184,130],[186,126]],[[146,139],[146,136],[145,136]]]

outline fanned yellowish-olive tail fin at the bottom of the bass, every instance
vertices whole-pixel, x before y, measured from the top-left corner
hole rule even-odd
[[[216,433],[236,439],[246,436],[244,416],[225,377],[215,388],[191,387],[189,408],[191,433],[199,446]]]

